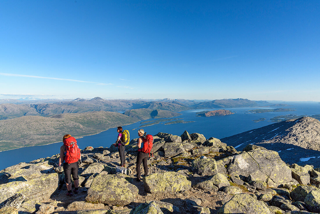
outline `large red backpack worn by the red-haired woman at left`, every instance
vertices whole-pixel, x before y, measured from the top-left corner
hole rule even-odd
[[[64,161],[68,164],[75,163],[80,159],[80,149],[74,137],[64,139],[63,145],[66,147],[66,157]]]

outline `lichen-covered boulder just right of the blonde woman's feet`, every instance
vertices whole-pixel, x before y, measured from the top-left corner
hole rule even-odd
[[[154,173],[143,178],[144,189],[149,193],[176,193],[191,188],[191,181],[176,172]]]

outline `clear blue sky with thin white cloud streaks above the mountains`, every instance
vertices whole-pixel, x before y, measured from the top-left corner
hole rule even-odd
[[[320,1],[0,1],[0,98],[320,101]]]

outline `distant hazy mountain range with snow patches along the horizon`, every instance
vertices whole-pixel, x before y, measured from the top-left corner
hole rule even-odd
[[[255,101],[241,98],[221,99],[204,102],[169,98],[158,101],[149,101],[142,99],[103,99],[100,97],[95,97],[92,99],[76,98],[74,100],[64,100],[53,103],[3,103],[0,104],[0,120],[29,115],[53,116],[63,113],[84,113],[90,111],[125,112],[127,110],[141,108],[176,112],[199,108],[250,107],[256,105],[257,103]]]

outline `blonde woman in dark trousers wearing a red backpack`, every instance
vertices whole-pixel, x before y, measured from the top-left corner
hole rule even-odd
[[[138,130],[138,154],[137,154],[137,181],[141,181],[141,162],[143,163],[144,176],[148,175],[148,157],[153,145],[153,136],[151,134],[146,134],[143,129]]]

